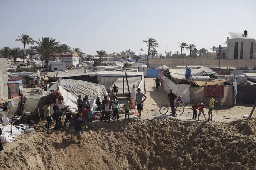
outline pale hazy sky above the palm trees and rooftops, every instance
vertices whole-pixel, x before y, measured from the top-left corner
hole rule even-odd
[[[139,54],[153,37],[157,51],[176,52],[178,42],[210,51],[228,32],[256,38],[256,0],[1,0],[0,48],[22,47],[20,34],[53,37],[87,54],[130,49]],[[224,44],[222,44],[224,46]],[[188,54],[187,50],[184,50]]]

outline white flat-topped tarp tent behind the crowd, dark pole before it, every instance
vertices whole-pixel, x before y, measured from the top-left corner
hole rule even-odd
[[[140,88],[141,92],[144,93],[144,72],[131,72],[131,71],[99,71],[90,74],[90,77],[97,76],[98,84],[104,85],[106,89],[112,90],[113,84],[115,84],[119,89],[119,92],[128,92],[128,87],[126,83],[125,73],[127,74],[127,79],[129,83],[130,92],[132,86],[135,88]]]

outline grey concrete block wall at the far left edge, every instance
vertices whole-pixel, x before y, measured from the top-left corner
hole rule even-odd
[[[7,58],[0,58],[0,97],[8,98]]]

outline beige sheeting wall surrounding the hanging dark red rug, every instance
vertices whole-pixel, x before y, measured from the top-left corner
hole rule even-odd
[[[205,98],[205,87],[190,87],[191,103],[198,102],[200,99],[203,100],[204,105],[208,105],[209,98]],[[221,106],[233,106],[234,93],[233,86],[224,86],[224,97],[214,98],[217,101],[214,105]]]

